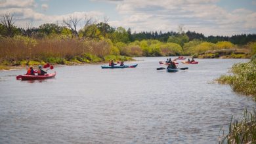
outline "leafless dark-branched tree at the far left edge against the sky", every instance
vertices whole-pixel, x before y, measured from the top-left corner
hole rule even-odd
[[[3,14],[0,18],[1,24],[7,29],[7,36],[13,37],[14,35],[14,20],[12,20],[14,13]]]

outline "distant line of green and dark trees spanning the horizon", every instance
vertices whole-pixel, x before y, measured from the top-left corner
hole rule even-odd
[[[72,27],[72,26],[70,26]],[[121,41],[123,43],[131,43],[134,41],[142,41],[147,39],[154,39],[161,42],[167,42],[169,37],[179,37],[181,33],[175,31],[168,31],[162,33],[161,31],[142,31],[137,33],[131,32],[131,29],[125,29],[123,27],[111,27],[108,23],[99,22],[96,24],[87,24],[85,27],[76,31],[76,29],[58,26],[58,24],[42,24],[39,27],[28,27],[27,29],[13,26],[5,27],[0,24],[0,36],[1,37],[13,37],[14,35],[24,35],[33,38],[42,38],[49,35],[66,35],[66,36],[79,36],[83,38],[100,39],[100,37],[108,37],[112,41]],[[115,32],[119,32],[119,35]],[[117,34],[117,35],[115,35]],[[186,31],[185,34],[188,37],[188,41],[198,39],[201,41],[207,41],[209,43],[218,43],[219,41],[229,41],[234,45],[246,45],[249,42],[256,41],[256,34],[240,34],[228,36],[213,36],[205,37],[202,33],[196,33],[195,31]],[[117,39],[117,36],[123,37],[123,39]]]

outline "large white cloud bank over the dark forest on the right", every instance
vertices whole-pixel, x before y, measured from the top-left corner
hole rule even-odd
[[[124,0],[116,10],[123,20],[113,26],[133,31],[176,31],[180,24],[205,35],[233,35],[256,28],[256,12],[237,9],[228,12],[217,6],[219,0]],[[256,32],[256,31],[251,31]]]

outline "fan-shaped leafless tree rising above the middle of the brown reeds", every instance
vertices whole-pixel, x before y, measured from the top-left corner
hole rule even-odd
[[[81,19],[78,19],[75,15],[70,16],[70,18],[63,20],[63,23],[71,29],[72,33],[77,35],[77,24]]]

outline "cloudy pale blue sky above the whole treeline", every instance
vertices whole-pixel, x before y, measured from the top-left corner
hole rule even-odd
[[[256,0],[0,0],[0,14],[14,13],[15,26],[63,25],[70,16],[140,31],[196,31],[231,36],[256,33]]]

